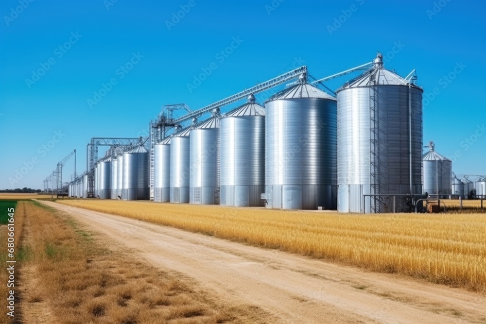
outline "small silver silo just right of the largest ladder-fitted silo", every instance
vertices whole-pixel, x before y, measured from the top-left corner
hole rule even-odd
[[[429,195],[446,196],[452,193],[452,161],[435,151],[433,141],[429,142],[429,152],[422,156],[424,188]]]

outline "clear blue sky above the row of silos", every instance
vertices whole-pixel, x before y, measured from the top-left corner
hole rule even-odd
[[[43,188],[73,149],[85,171],[91,137],[145,134],[164,104],[197,109],[292,67],[321,78],[377,51],[402,76],[417,69],[424,145],[458,174],[486,174],[484,1],[280,1],[1,1],[0,188]],[[64,179],[73,172],[69,161]]]

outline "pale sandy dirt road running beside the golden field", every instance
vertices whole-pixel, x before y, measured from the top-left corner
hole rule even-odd
[[[486,323],[486,296],[478,293],[43,204],[156,267],[195,279],[224,301],[263,308],[278,323]]]

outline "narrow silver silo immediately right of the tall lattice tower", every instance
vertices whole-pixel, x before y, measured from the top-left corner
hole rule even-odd
[[[171,137],[154,146],[154,201],[168,203],[171,200]]]

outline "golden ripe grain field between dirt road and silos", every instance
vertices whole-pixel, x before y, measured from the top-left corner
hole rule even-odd
[[[486,291],[486,218],[481,214],[349,215],[108,200],[62,203]]]

